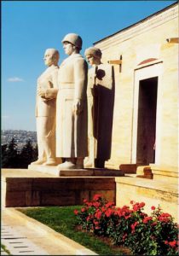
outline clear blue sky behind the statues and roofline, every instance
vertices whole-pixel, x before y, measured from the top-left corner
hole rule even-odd
[[[83,49],[176,1],[2,1],[2,129],[36,131],[35,100],[47,48],[66,58],[61,39]]]

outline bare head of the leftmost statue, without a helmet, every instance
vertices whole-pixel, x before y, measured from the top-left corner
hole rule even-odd
[[[49,48],[45,50],[44,57],[43,57],[45,65],[50,67],[51,65],[54,64],[56,66],[58,65],[59,59],[60,59],[60,54],[57,49]]]

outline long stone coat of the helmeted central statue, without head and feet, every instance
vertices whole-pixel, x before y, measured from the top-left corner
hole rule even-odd
[[[87,73],[88,65],[80,54],[73,54],[61,63],[59,91],[56,99],[56,156],[64,158],[87,156]],[[73,110],[81,100],[83,110]]]

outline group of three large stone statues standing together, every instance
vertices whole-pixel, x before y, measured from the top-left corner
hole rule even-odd
[[[84,52],[88,70],[78,34],[69,33],[61,42],[68,57],[59,67],[58,50],[46,49],[47,69],[38,78],[38,160],[32,165],[104,167],[111,150],[113,66],[102,64],[101,50],[90,47]]]

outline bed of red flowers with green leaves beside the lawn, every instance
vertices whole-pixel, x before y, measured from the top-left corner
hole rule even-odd
[[[130,248],[134,254],[178,255],[178,229],[169,213],[151,207],[150,216],[143,212],[144,202],[130,201],[131,206],[115,207],[102,195],[74,213],[83,230],[109,237],[113,244]]]

